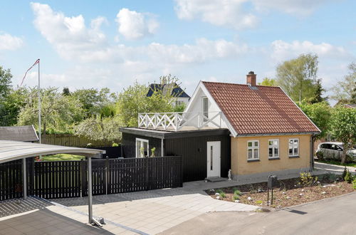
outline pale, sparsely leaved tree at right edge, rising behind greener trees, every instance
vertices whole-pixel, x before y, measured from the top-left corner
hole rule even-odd
[[[356,103],[356,63],[350,63],[348,68],[349,74],[334,86],[334,94],[330,97],[340,103]]]

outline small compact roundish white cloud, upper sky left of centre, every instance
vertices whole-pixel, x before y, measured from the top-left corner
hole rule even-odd
[[[118,31],[127,39],[139,39],[155,33],[159,23],[147,15],[123,8],[116,16]]]

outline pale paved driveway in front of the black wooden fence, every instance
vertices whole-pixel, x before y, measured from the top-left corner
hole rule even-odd
[[[236,182],[192,182],[176,189],[99,195],[93,197],[93,213],[120,226],[157,234],[209,211],[254,211],[258,208],[212,199],[202,191],[229,184]],[[87,198],[53,201],[78,211],[88,210]]]

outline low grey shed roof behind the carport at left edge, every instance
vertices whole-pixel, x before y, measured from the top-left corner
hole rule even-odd
[[[38,136],[33,125],[0,127],[0,140],[35,142]]]

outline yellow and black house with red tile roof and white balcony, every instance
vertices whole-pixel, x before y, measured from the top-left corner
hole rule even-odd
[[[200,81],[184,113],[140,114],[121,128],[123,157],[182,156],[183,180],[310,171],[319,128],[279,87]]]

